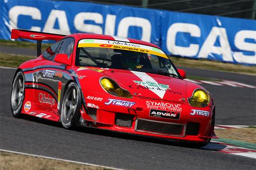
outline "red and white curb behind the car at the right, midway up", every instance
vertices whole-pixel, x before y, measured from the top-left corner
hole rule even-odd
[[[244,87],[244,88],[256,88],[256,86],[234,82],[234,81],[228,81],[228,80],[222,80],[222,81],[205,81],[205,80],[191,80],[191,79],[184,79],[186,81],[197,83],[197,84],[210,84],[215,86],[232,86],[232,87]]]

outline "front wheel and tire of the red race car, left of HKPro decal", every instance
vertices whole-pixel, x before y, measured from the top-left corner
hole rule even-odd
[[[66,129],[75,128],[81,108],[80,89],[75,83],[70,83],[61,103],[60,122]]]

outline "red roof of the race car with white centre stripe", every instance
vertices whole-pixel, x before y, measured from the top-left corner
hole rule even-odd
[[[103,34],[76,33],[76,34],[71,34],[69,36],[76,37],[78,40],[86,39],[86,38],[115,40],[115,41],[137,43],[137,44],[142,44],[142,45],[149,45],[149,46],[153,46],[153,47],[156,47],[156,48],[160,48],[159,46],[157,46],[153,43],[142,41],[142,40],[137,40],[137,39],[132,39],[132,38],[125,38],[125,37],[118,37],[118,36],[103,35]]]

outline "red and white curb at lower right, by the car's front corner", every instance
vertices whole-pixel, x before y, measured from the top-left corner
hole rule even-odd
[[[212,143],[207,144],[202,149],[217,151],[217,152],[231,154],[231,155],[240,155],[240,156],[256,159],[256,150],[236,147],[228,143],[212,141]]]

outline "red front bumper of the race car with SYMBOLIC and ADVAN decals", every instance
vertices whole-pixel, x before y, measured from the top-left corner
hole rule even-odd
[[[109,94],[95,94],[88,91],[86,93],[88,94],[84,96],[86,107],[81,109],[81,116],[87,126],[194,142],[208,142],[209,138],[215,138],[212,135],[214,134],[212,106],[196,108],[188,103],[137,96],[133,99],[124,99]],[[115,102],[110,99],[114,99]],[[151,114],[153,111],[159,111],[159,114],[157,115],[156,112]],[[179,117],[168,117],[167,113],[169,115],[179,113]]]

